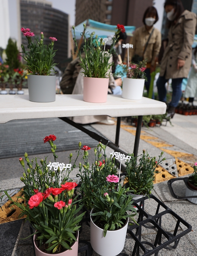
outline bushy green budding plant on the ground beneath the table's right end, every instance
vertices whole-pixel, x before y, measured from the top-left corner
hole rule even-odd
[[[160,160],[162,155],[163,151],[157,160],[155,156],[150,157],[149,154],[143,150],[143,154],[140,155],[139,163],[137,157],[134,157],[133,154],[131,154],[130,161],[125,162],[125,186],[133,191],[133,194],[131,194],[133,199],[136,200],[151,194],[155,168],[160,162],[165,160],[165,158]]]

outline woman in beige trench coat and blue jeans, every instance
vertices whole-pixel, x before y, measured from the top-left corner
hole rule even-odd
[[[166,102],[165,83],[172,78],[172,100],[167,112],[173,117],[181,98],[181,84],[188,76],[192,58],[192,44],[196,28],[196,14],[184,10],[181,0],[166,0],[164,4],[169,20],[168,45],[161,60],[157,80],[159,100]]]

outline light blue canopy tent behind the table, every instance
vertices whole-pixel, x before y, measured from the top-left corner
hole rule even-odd
[[[102,38],[114,35],[115,31],[117,31],[116,26],[114,25],[109,25],[95,20],[87,19],[75,27],[76,39],[80,39],[81,32],[84,32],[84,23],[86,24],[87,32],[92,33],[93,31],[95,31],[95,35],[98,35],[98,37]],[[135,26],[125,26],[124,28],[127,36],[133,35],[132,33],[135,30]],[[74,37],[73,31],[72,35]]]

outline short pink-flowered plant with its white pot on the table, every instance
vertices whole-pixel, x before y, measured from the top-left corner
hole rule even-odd
[[[130,63],[123,66],[123,73],[126,77],[122,83],[122,98],[130,100],[141,100],[146,79],[146,62],[140,61],[139,64]]]

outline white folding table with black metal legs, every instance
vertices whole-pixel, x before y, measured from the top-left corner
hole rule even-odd
[[[138,116],[134,155],[137,155],[143,115],[157,115],[166,112],[164,102],[143,97],[141,100],[123,99],[121,95],[108,95],[106,103],[83,101],[83,95],[57,94],[56,101],[40,103],[29,101],[29,95],[0,95],[0,123],[16,119],[58,117],[89,134],[94,139],[117,150],[122,116]],[[67,117],[108,115],[117,117],[115,144],[98,134],[85,129]],[[120,150],[119,150],[120,151]]]

